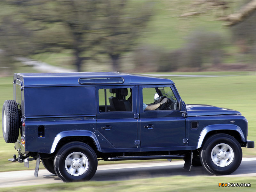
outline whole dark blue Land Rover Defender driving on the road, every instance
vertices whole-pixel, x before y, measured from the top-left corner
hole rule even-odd
[[[241,147],[254,147],[247,124],[235,110],[185,104],[170,79],[118,72],[14,74],[2,112],[18,151],[9,161],[36,160],[35,176],[42,161],[65,182],[90,180],[99,160],[184,159],[230,174]]]

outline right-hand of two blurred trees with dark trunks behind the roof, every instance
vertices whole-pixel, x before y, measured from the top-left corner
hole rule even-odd
[[[134,50],[152,15],[152,3],[102,1],[100,17],[101,52],[107,53],[113,71],[120,70],[120,57]],[[133,6],[132,6],[133,5]]]

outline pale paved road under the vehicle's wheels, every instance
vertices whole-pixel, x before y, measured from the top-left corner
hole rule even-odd
[[[184,161],[164,161],[151,163],[133,164],[109,164],[99,165],[93,181],[116,181],[132,180],[138,178],[153,178],[167,176],[200,176],[207,177],[241,177],[256,176],[256,158],[243,158],[240,167],[232,174],[225,176],[214,176],[204,170],[203,167],[193,167],[191,171],[183,169]],[[40,164],[40,166],[43,166]],[[56,176],[47,170],[39,170],[38,178],[34,176],[33,170],[1,172],[0,188],[31,186],[40,184],[62,183]]]

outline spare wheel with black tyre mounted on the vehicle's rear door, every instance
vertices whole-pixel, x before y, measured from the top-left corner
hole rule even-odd
[[[19,137],[19,109],[15,100],[5,100],[2,109],[2,130],[6,143],[15,143]]]

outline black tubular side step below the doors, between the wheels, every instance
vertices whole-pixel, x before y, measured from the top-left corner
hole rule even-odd
[[[107,161],[147,160],[147,159],[183,159],[185,157],[186,155],[119,156],[119,157],[108,157]]]

